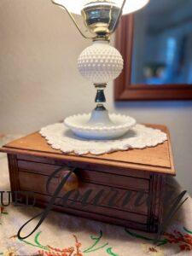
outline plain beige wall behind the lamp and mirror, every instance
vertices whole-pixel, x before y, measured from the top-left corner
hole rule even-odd
[[[95,89],[78,73],[77,58],[90,45],[49,0],[0,2],[0,132],[26,133],[94,108]],[[192,102],[113,102],[108,109],[138,122],[167,125],[177,179],[192,193]]]

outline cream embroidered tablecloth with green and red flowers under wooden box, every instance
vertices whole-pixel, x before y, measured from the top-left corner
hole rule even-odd
[[[0,144],[14,137],[1,137]],[[0,191],[8,191],[9,171],[6,154],[0,154]],[[181,191],[175,179],[169,185]],[[27,220],[42,212],[39,208],[0,207],[0,255],[192,255],[192,199],[172,219],[154,245],[154,235],[59,212],[50,212],[40,228],[26,240],[20,241],[17,232]],[[37,224],[27,226],[28,234]],[[28,232],[27,232],[28,231]]]

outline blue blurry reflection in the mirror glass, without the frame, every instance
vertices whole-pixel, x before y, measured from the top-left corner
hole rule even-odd
[[[192,0],[151,0],[134,15],[131,84],[192,84]]]

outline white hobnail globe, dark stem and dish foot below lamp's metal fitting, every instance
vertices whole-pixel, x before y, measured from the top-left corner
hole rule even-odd
[[[64,124],[80,138],[112,140],[123,137],[136,120],[120,114],[109,114],[104,107],[104,89],[121,73],[124,61],[119,51],[106,39],[96,40],[79,55],[79,73],[96,87],[96,108],[89,114],[68,117]]]

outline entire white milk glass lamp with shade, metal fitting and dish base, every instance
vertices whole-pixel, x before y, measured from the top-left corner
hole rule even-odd
[[[104,89],[121,73],[124,61],[119,51],[109,44],[121,15],[143,8],[149,0],[51,0],[65,9],[84,38],[93,44],[79,55],[79,73],[96,87],[96,108],[89,114],[77,114],[64,120],[73,133],[85,139],[122,137],[136,120],[120,114],[109,114],[104,107]],[[86,33],[73,14],[82,15]],[[88,34],[89,33],[89,34]]]

